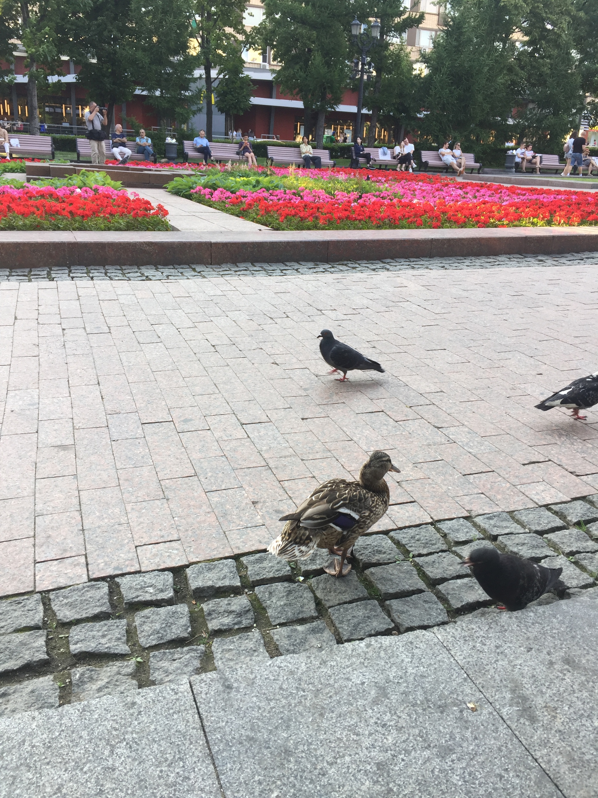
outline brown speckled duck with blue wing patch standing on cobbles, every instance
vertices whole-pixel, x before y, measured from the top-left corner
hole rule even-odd
[[[346,576],[345,563],[356,539],[367,532],[388,510],[390,493],[384,475],[399,468],[386,452],[372,452],[360,468],[359,479],[328,480],[301,504],[296,512],[282,516],[282,534],[268,551],[282,559],[307,559],[315,548],[327,548],[339,555],[325,567],[332,576]]]

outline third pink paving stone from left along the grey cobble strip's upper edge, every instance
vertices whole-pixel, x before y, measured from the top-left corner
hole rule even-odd
[[[89,579],[140,570],[128,523],[106,524],[85,530]]]

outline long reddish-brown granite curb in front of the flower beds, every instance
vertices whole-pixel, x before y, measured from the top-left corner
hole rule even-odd
[[[598,227],[465,230],[17,232],[0,237],[0,268],[284,263],[598,251]]]

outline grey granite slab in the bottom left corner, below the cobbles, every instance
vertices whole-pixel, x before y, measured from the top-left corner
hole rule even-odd
[[[2,718],[0,748],[2,798],[222,796],[187,683]]]

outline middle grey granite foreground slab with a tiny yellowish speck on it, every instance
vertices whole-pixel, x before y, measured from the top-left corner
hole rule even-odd
[[[480,798],[471,774],[482,763],[487,796],[562,798],[430,632],[273,658],[234,679],[202,674],[191,686],[227,798]]]

